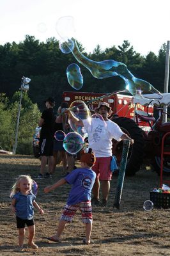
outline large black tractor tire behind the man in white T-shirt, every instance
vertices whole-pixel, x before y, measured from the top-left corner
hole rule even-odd
[[[144,148],[144,136],[142,129],[134,122],[134,120],[126,117],[118,117],[112,119],[113,122],[118,124],[122,131],[128,134],[130,138],[134,139],[134,144],[129,148],[128,161],[125,175],[133,176],[139,171],[141,164],[143,163],[143,148]],[[117,157],[118,161],[121,160],[121,152],[123,147],[123,141],[113,140],[112,153]],[[115,147],[116,146],[116,147]]]

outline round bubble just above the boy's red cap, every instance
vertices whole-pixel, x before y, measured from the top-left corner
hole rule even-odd
[[[63,147],[69,154],[77,154],[84,146],[84,139],[77,132],[69,132],[63,140]]]

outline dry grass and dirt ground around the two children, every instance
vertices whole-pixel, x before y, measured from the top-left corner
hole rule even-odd
[[[78,163],[79,165],[79,163]],[[82,244],[84,226],[77,212],[72,223],[66,226],[63,243],[52,243],[45,237],[54,234],[61,209],[65,205],[70,189],[64,185],[49,194],[43,193],[45,186],[54,183],[63,175],[58,165],[52,179],[36,179],[40,161],[32,156],[0,156],[0,255],[170,255],[170,211],[153,208],[143,210],[143,202],[150,199],[150,189],[158,187],[159,178],[152,170],[140,170],[134,177],[125,177],[120,210],[114,209],[117,176],[111,181],[109,205],[93,207],[93,232],[91,244]],[[17,228],[15,216],[10,212],[10,189],[15,178],[29,174],[38,183],[36,202],[45,214],[35,210],[38,250],[26,247],[24,252],[15,252]],[[169,178],[170,179],[170,178]],[[27,244],[27,232],[25,238]]]

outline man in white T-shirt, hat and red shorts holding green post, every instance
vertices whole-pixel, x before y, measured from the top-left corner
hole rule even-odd
[[[121,131],[120,127],[108,119],[111,115],[111,107],[106,102],[100,102],[95,109],[95,113],[102,116],[101,118],[91,118],[89,120],[79,120],[72,112],[69,111],[69,118],[77,126],[83,126],[88,132],[89,148],[95,153],[96,163],[93,171],[97,174],[95,184],[93,186],[93,204],[98,205],[100,181],[102,182],[102,205],[107,205],[107,199],[110,190],[110,180],[112,179],[111,159],[112,159],[112,139],[130,140],[133,144],[134,140]]]

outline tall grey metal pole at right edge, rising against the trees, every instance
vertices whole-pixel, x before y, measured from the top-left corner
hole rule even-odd
[[[169,50],[170,50],[170,41],[167,41],[167,47],[166,47],[166,69],[165,69],[165,80],[164,80],[164,93],[168,92],[168,83],[169,83]],[[167,106],[164,106],[164,112],[162,122],[167,122]]]

